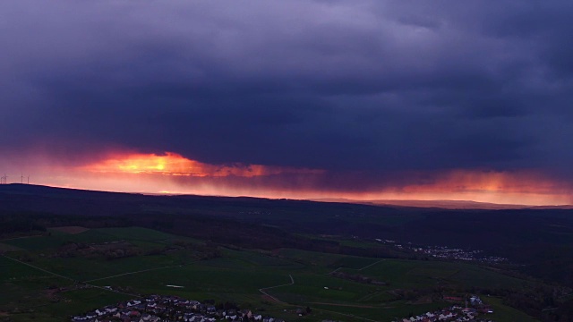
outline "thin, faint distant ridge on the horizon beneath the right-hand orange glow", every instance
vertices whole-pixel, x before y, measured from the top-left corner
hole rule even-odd
[[[496,204],[491,202],[479,202],[472,200],[397,200],[397,199],[377,199],[377,200],[354,200],[354,199],[312,199],[321,202],[342,202],[356,203],[364,205],[378,206],[398,206],[413,208],[442,208],[442,209],[573,209],[573,205],[555,206],[530,206],[513,204]]]

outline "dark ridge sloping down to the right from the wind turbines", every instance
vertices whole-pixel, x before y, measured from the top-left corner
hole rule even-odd
[[[201,195],[148,195],[130,192],[88,191],[34,184],[0,185],[0,215],[32,212],[59,215],[123,216],[168,214],[201,216],[252,216],[270,213],[333,213],[346,211],[380,213],[396,207],[341,204],[304,199],[265,199]],[[386,209],[382,209],[386,208]]]

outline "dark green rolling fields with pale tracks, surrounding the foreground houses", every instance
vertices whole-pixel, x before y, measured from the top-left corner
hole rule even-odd
[[[82,250],[94,249],[95,255],[61,256],[62,250],[74,243],[81,243]],[[2,244],[7,245],[2,251],[9,258],[0,257],[0,313],[3,314],[0,319],[8,314],[13,321],[63,321],[73,314],[130,298],[90,285],[111,286],[115,291],[130,294],[175,294],[197,301],[233,301],[287,321],[363,321],[363,318],[390,321],[450,305],[432,301],[429,296],[420,301],[406,301],[397,297],[400,290],[432,289],[436,285],[453,289],[463,285],[519,288],[530,283],[468,264],[361,258],[304,250],[263,252],[218,247],[218,258],[201,259],[198,253],[204,250],[196,248],[201,247],[201,242],[139,227],[94,229],[77,234],[50,232]],[[118,245],[138,253],[104,258],[95,251]],[[149,253],[157,248],[166,251]],[[329,275],[334,270],[388,284],[363,284]],[[496,310],[491,316],[496,321],[513,321],[516,315],[519,320],[534,320],[504,306],[499,299],[487,301]],[[312,314],[295,315],[294,309],[304,307],[312,308]]]

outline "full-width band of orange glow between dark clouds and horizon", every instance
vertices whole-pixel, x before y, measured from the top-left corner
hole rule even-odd
[[[1,161],[1,160],[0,160]],[[34,163],[36,161],[37,163]],[[500,204],[573,203],[573,184],[534,170],[452,169],[397,174],[375,182],[365,174],[327,173],[321,169],[274,165],[211,165],[167,152],[119,152],[83,165],[58,165],[27,158],[6,164],[30,174],[30,183],[98,191],[251,196],[288,199],[474,200]],[[20,170],[21,169],[21,170]]]

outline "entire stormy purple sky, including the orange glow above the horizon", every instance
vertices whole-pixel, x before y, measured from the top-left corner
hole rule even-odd
[[[572,204],[570,21],[569,0],[5,0],[0,173]]]

